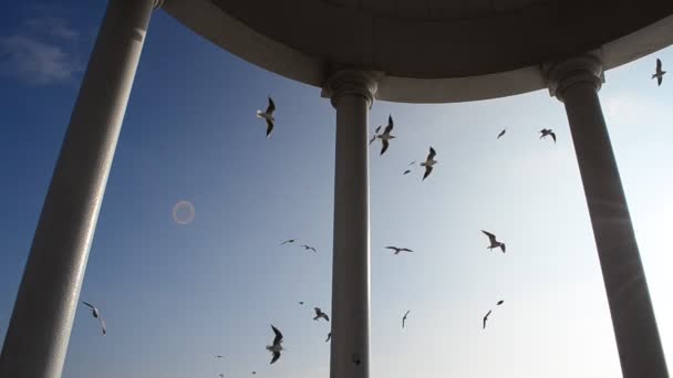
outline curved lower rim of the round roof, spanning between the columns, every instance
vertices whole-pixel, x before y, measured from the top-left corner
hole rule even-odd
[[[288,78],[321,88],[330,62],[273,41],[225,13],[210,0],[165,0],[163,9],[230,53]],[[673,44],[673,15],[599,48],[604,71]],[[505,97],[547,87],[540,65],[479,76],[383,76],[376,98],[400,103],[457,103]]]

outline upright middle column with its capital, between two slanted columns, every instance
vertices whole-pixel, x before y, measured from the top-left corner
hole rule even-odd
[[[331,378],[370,376],[370,206],[367,113],[372,75],[340,71],[324,94],[336,109]]]

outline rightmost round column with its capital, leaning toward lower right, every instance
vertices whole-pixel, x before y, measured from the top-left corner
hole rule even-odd
[[[624,378],[669,377],[645,273],[610,145],[598,91],[600,60],[586,55],[551,66],[552,95],[568,114],[603,273]]]

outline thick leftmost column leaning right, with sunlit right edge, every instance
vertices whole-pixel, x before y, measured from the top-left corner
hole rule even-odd
[[[59,378],[122,119],[156,0],[110,0],[42,207],[0,356]]]

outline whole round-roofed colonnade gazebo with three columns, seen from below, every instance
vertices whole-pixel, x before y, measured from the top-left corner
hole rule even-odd
[[[451,103],[541,88],[566,106],[623,377],[669,377],[598,91],[604,71],[673,43],[671,0],[110,0],[40,216],[0,377],[61,377],[156,8],[253,64],[322,88],[336,109],[331,378],[370,376],[374,99]]]

